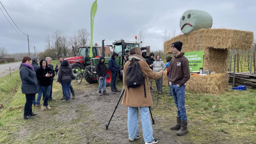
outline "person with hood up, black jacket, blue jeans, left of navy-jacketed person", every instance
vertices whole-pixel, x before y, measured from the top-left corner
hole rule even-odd
[[[96,73],[99,78],[99,95],[109,95],[106,92],[106,85],[107,85],[107,71],[106,71],[106,65],[105,65],[105,59],[104,57],[100,57],[99,63],[96,66]],[[103,84],[103,94],[101,93],[101,87]]]

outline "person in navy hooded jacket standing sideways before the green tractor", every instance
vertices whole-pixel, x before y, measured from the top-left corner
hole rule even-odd
[[[118,66],[116,65],[116,57],[117,53],[113,52],[113,55],[111,58],[108,60],[108,67],[111,71],[111,93],[115,94],[115,92],[120,92],[120,90],[117,90],[116,88],[116,77],[119,71]]]

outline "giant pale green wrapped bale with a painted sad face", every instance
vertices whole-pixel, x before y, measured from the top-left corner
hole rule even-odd
[[[204,11],[189,9],[180,17],[180,30],[185,34],[212,27],[212,16]]]

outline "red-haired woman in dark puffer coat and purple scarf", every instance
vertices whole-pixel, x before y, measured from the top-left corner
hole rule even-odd
[[[24,119],[34,119],[36,113],[32,112],[33,99],[38,93],[38,85],[36,79],[36,72],[31,65],[30,57],[23,57],[20,64],[20,79],[21,79],[21,92],[26,96],[26,103],[24,106]]]

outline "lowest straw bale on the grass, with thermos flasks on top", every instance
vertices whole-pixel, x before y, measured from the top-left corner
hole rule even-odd
[[[191,76],[186,90],[218,94],[228,87],[228,74],[215,73],[208,76]]]

